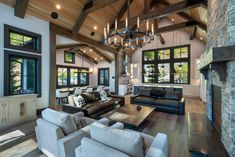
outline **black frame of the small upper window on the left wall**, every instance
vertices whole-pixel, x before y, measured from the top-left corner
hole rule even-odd
[[[14,32],[23,36],[29,36],[32,38],[37,39],[37,50],[24,48],[19,46],[14,46],[10,44],[10,32]],[[42,36],[40,34],[36,34],[30,31],[26,31],[17,27],[13,27],[7,24],[4,24],[4,47],[9,49],[21,50],[21,51],[28,51],[32,53],[41,54],[42,52]]]

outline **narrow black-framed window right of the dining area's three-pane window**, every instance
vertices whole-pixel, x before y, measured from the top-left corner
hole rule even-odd
[[[109,68],[98,69],[98,84],[109,86]]]

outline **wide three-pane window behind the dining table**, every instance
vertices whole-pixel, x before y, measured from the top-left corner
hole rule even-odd
[[[57,88],[89,85],[89,69],[72,66],[57,66]]]

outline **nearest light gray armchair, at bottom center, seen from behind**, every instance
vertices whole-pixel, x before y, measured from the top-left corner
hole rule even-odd
[[[93,123],[91,137],[82,139],[76,157],[168,157],[167,135],[153,137],[118,126],[113,129]]]

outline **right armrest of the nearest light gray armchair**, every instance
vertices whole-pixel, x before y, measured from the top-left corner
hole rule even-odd
[[[158,133],[145,157],[168,157],[167,135]]]

